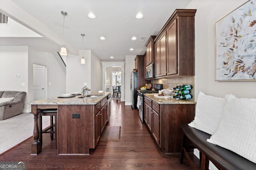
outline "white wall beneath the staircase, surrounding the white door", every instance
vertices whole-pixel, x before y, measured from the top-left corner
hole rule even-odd
[[[66,76],[51,53],[28,47],[28,102],[33,99],[33,64],[46,66],[46,98],[58,97],[66,93]],[[49,85],[51,83],[51,85]],[[30,109],[30,105],[29,105]]]

